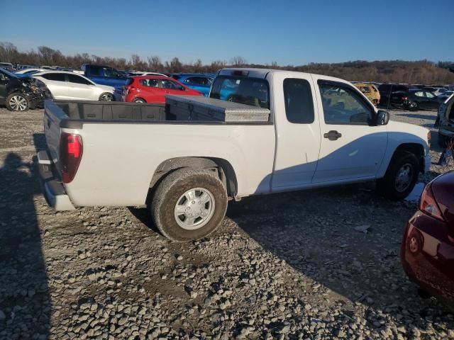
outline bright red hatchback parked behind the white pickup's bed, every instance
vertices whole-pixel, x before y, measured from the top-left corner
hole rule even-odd
[[[135,103],[165,103],[166,94],[204,95],[169,77],[142,76],[131,77],[126,81],[123,100]]]

